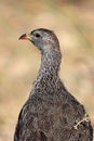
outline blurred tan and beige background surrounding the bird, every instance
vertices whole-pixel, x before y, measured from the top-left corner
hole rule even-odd
[[[40,66],[40,52],[18,37],[54,30],[63,53],[61,78],[94,125],[94,1],[0,1],[0,141],[12,141],[18,113]]]

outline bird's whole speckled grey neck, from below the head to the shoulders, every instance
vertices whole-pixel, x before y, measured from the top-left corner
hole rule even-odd
[[[38,76],[32,85],[31,94],[36,91],[53,92],[57,87],[58,70],[62,54],[59,50],[50,50],[41,55],[41,66]]]

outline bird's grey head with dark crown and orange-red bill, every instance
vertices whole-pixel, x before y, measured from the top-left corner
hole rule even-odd
[[[54,31],[45,28],[35,29],[30,34],[22,35],[19,39],[30,40],[41,51],[59,48],[58,39]]]

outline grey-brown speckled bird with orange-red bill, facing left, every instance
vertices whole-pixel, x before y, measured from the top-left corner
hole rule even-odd
[[[41,65],[15,127],[14,141],[93,141],[84,106],[59,78],[62,52],[55,33],[38,28],[24,34],[41,53]]]

